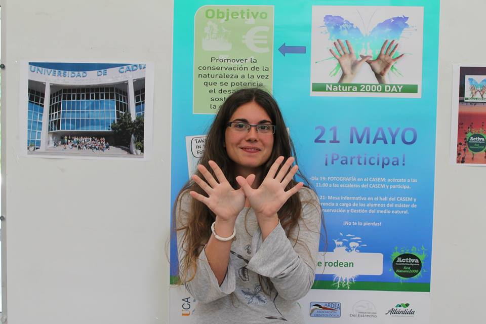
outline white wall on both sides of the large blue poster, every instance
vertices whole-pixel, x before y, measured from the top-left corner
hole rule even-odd
[[[166,323],[172,2],[0,4],[9,323]],[[437,324],[484,321],[486,169],[451,166],[448,156],[451,63],[486,65],[485,11],[484,0],[441,4],[431,293]],[[33,58],[154,62],[153,159],[19,157],[17,61]],[[98,199],[78,204],[77,197]]]

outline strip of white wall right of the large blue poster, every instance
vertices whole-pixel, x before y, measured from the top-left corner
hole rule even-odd
[[[483,323],[486,168],[449,164],[452,63],[486,66],[484,0],[442,0],[431,323]]]

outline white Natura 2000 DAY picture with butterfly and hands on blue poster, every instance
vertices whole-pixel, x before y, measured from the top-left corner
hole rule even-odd
[[[423,7],[312,6],[311,96],[420,98],[423,29]]]

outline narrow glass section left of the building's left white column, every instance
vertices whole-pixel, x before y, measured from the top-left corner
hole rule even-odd
[[[44,93],[29,89],[27,111],[27,147],[41,147],[42,116],[44,114]]]

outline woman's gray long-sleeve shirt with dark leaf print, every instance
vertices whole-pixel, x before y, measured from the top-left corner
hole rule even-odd
[[[205,251],[197,260],[197,271],[187,290],[198,301],[194,315],[201,324],[227,323],[302,323],[297,300],[304,297],[314,282],[315,254],[319,246],[320,206],[313,191],[299,191],[303,214],[288,238],[280,224],[262,240],[260,227],[251,208],[244,208],[236,219],[236,240],[226,277],[218,285]],[[178,223],[187,220],[188,194],[182,194],[176,210]],[[177,232],[179,260],[183,232]],[[270,278],[274,289],[267,295],[258,274]],[[265,285],[265,284],[263,284]],[[268,292],[268,289],[266,289]]]

